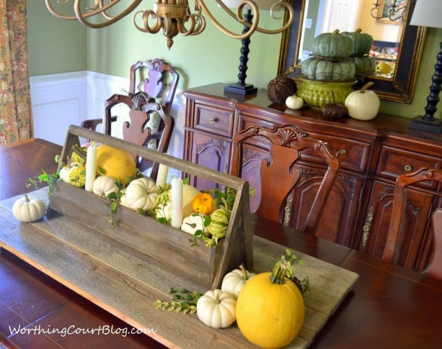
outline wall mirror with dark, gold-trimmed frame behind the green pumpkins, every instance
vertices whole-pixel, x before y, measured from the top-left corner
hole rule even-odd
[[[371,34],[374,41],[369,52],[379,67],[387,63],[391,69],[381,70],[358,79],[355,88],[361,88],[368,81],[373,81],[374,90],[379,98],[401,103],[411,103],[417,70],[421,63],[425,27],[410,26],[410,19],[415,0],[400,1],[405,5],[403,19],[392,21],[388,18],[376,19],[387,10],[392,0],[378,0],[378,10],[374,1],[365,0],[293,0],[295,19],[290,30],[282,34],[278,73],[294,67],[289,74],[297,81],[300,63],[309,57],[309,42],[321,32],[332,32],[331,28],[344,28],[352,32],[361,28]],[[397,1],[396,1],[397,2]],[[347,3],[347,4],[345,4]],[[332,12],[338,8],[347,8],[351,15]],[[340,20],[343,18],[344,20]],[[346,27],[345,27],[346,26]],[[368,28],[367,30],[364,27]],[[291,68],[293,70],[293,68]]]

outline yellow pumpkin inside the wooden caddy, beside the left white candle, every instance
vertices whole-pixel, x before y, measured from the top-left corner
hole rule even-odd
[[[135,175],[135,169],[135,160],[128,152],[106,145],[97,147],[97,173],[119,179],[125,185]]]

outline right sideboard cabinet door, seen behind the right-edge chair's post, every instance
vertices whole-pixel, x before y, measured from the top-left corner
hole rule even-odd
[[[369,200],[369,213],[359,248],[374,257],[382,258],[383,255],[390,219],[394,215],[392,212],[393,193],[393,185],[374,181]],[[433,195],[418,192],[412,188],[407,190],[407,215],[398,261],[401,266],[407,268],[416,266],[433,199]]]

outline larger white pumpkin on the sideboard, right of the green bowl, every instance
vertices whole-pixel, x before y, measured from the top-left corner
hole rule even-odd
[[[345,99],[348,114],[353,119],[367,121],[378,114],[381,101],[376,92],[367,90],[373,84],[372,81],[366,83],[361,90],[350,93]]]

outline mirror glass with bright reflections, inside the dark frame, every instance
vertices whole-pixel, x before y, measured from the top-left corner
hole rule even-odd
[[[363,0],[305,0],[304,16],[300,34],[297,63],[300,64],[312,55],[313,39],[324,32],[362,32],[373,37],[372,50],[369,54],[376,60],[376,77],[393,79],[398,52],[401,49],[403,20],[383,17],[392,6],[393,0],[377,1],[375,8],[372,1]],[[398,2],[398,1],[396,1]],[[403,1],[401,1],[403,2]],[[372,9],[375,9],[372,11]]]

